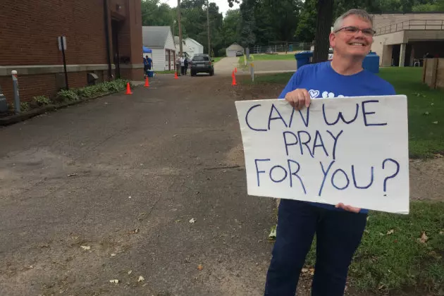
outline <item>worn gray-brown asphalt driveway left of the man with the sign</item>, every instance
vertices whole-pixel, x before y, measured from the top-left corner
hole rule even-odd
[[[261,295],[274,202],[230,81],[151,85],[0,129],[1,296]]]

